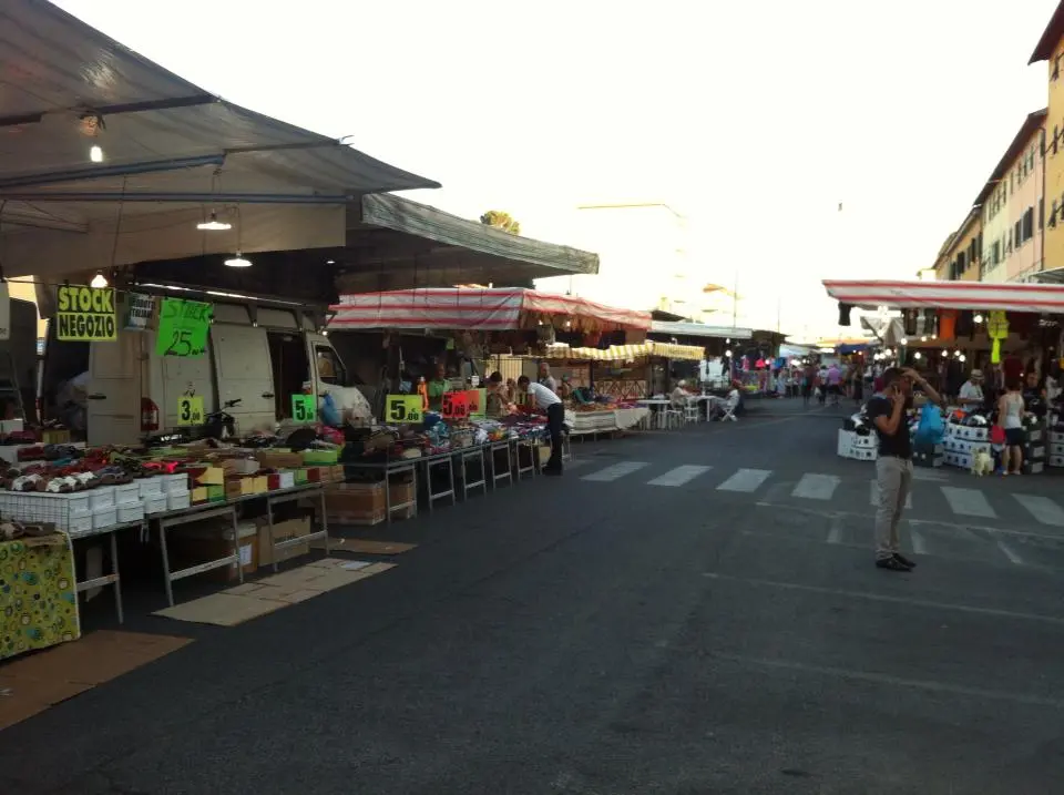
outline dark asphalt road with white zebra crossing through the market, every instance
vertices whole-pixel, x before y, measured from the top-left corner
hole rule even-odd
[[[396,523],[390,572],[4,731],[0,792],[1057,792],[1061,480],[925,476],[920,565],[883,572],[830,411],[577,446]]]

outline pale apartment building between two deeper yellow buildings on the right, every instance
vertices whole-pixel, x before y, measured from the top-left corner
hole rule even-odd
[[[1015,282],[1042,269],[1046,115],[1047,109],[1027,115],[975,197],[983,226],[982,282]],[[1048,222],[1064,224],[1064,203],[1052,202]]]

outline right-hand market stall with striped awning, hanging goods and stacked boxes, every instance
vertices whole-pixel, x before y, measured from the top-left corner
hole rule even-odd
[[[899,310],[886,329],[890,347],[876,354],[881,365],[902,364],[919,370],[950,399],[944,434],[915,447],[920,466],[970,469],[986,456],[1000,463],[1000,445],[991,441],[996,397],[1006,384],[1023,384],[1023,471],[1064,466],[1061,415],[1061,344],[1064,287],[969,282],[826,281],[839,302],[840,322],[853,307]],[[975,373],[984,381],[978,401],[964,407],[955,398]],[[919,409],[910,417],[915,435]],[[860,414],[839,432],[839,455],[876,458],[876,431]]]

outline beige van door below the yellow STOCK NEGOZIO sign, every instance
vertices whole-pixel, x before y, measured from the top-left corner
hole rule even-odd
[[[146,336],[119,332],[113,343],[89,346],[85,424],[90,446],[140,441],[141,344]]]

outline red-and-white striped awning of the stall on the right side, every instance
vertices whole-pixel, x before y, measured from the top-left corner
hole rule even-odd
[[[1064,285],[829,281],[828,295],[862,309],[1006,309],[1064,314]]]

